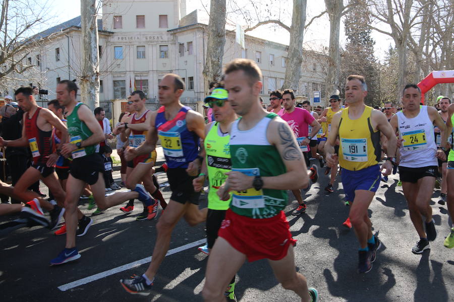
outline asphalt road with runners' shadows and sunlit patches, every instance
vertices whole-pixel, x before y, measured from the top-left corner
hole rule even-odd
[[[114,178],[119,179],[118,172]],[[158,179],[165,183],[165,174],[159,174]],[[340,176],[337,179],[340,181]],[[328,178],[322,175],[308,192],[303,192],[308,204],[306,214],[291,215],[297,206],[291,194],[286,208],[291,232],[298,240],[297,269],[307,277],[309,286],[318,289],[320,301],[454,300],[454,250],[443,246],[448,234],[448,215],[446,206],[436,202],[439,190],[434,192],[431,202],[438,236],[430,244],[431,250],[414,255],[411,248],[419,238],[411,223],[402,187],[396,187],[395,176],[390,177],[388,183],[380,184],[369,214],[383,247],[372,270],[360,275],[356,272],[355,234],[342,226],[349,211],[343,202],[342,184],[336,183],[335,192],[326,195],[323,188],[327,182]],[[164,187],[162,191],[168,200],[169,188]],[[206,206],[206,195],[201,196],[200,205]],[[36,226],[1,237],[0,300],[201,301],[207,256],[197,250],[201,245],[197,241],[203,242],[204,225],[191,228],[180,221],[171,241],[173,254],[162,263],[153,293],[147,297],[130,295],[121,287],[119,279],[141,274],[146,269],[146,260],[136,263],[136,267],[131,263],[151,255],[156,220],[135,220],[142,210],[139,201],[132,213],[125,214],[119,207],[94,217],[88,233],[77,238],[82,257],[65,265],[48,264],[63,249],[64,236],[55,237],[52,232]],[[90,212],[83,200],[80,208],[84,213]],[[17,216],[0,217],[0,223],[15,218]],[[277,283],[266,260],[245,263],[237,275],[236,295],[239,301],[299,300],[295,293]]]

